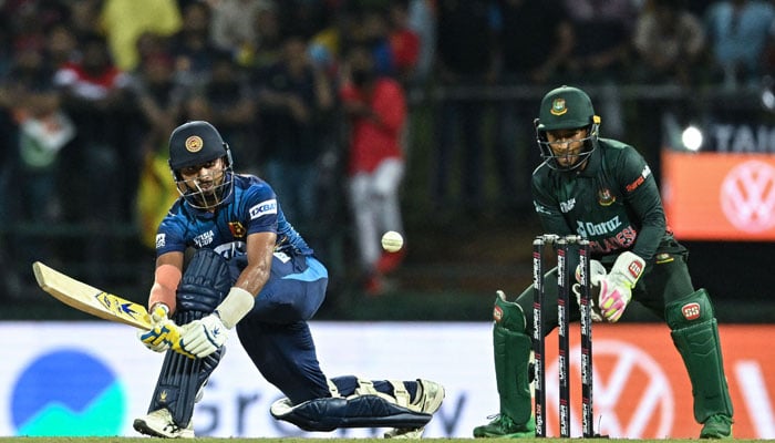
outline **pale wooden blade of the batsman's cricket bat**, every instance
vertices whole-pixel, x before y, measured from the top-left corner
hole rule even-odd
[[[69,277],[40,261],[32,264],[38,286],[45,292],[92,316],[141,329],[152,329],[145,307]]]

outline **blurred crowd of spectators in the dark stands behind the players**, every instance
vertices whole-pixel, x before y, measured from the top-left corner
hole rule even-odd
[[[775,68],[775,7],[765,0],[0,4],[0,224],[4,234],[85,224],[92,245],[72,254],[97,257],[93,249],[110,243],[101,233],[115,226],[140,227],[153,246],[158,212],[176,197],[167,137],[188,120],[215,124],[238,172],[266,177],[310,236],[339,229],[337,214],[349,210],[339,199],[350,136],[341,90],[353,80],[353,48],[366,48],[371,74],[394,79],[407,96],[480,85],[542,92],[557,83],[734,91],[760,85]],[[430,187],[413,192],[426,192],[434,208],[479,210],[492,151],[499,202],[526,207],[538,163],[529,144],[535,101],[498,101],[488,146],[483,132],[493,114],[484,110],[493,101],[450,96],[423,127],[434,145]],[[616,102],[601,103],[607,132],[622,135]],[[404,143],[413,130],[402,130]],[[24,239],[14,249],[13,241],[6,236],[6,254],[40,256],[43,243]]]

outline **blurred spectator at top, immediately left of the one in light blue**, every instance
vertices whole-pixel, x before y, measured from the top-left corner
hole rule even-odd
[[[681,1],[652,0],[638,18],[633,47],[639,81],[689,86],[701,71],[705,49],[702,21]]]

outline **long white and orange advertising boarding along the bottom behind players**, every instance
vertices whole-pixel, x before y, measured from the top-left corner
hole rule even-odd
[[[427,437],[471,437],[498,412],[492,323],[313,322],[329,377],[426,378],[446,387]],[[723,324],[724,367],[735,409],[734,436],[775,439],[774,324]],[[0,435],[137,436],[163,356],[132,328],[110,322],[6,322],[13,337],[0,365]],[[95,339],[99,338],[99,339]],[[571,326],[571,435],[580,436],[579,331]],[[309,433],[269,415],[281,394],[242,351],[236,334],[197,404],[198,436],[370,437],[384,430]],[[598,324],[593,331],[596,429],[622,439],[696,439],[691,385],[664,324]],[[559,435],[557,340],[547,350],[549,435]]]

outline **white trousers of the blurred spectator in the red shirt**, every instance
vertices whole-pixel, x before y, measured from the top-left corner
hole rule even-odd
[[[361,266],[365,271],[374,270],[382,256],[382,234],[386,230],[403,234],[399,200],[403,176],[403,159],[388,158],[373,173],[358,173],[350,177],[350,208],[355,223]]]

